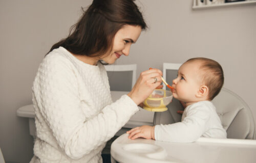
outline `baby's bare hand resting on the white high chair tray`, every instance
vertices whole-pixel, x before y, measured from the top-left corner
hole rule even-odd
[[[140,126],[127,131],[130,134],[129,139],[145,138],[145,139],[155,139],[155,126]]]

